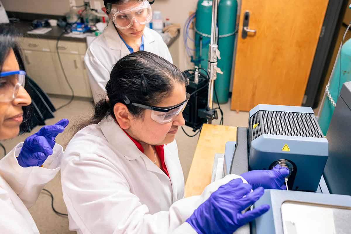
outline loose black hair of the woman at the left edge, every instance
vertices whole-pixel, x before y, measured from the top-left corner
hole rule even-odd
[[[16,31],[13,26],[9,25],[0,25],[0,71],[2,72],[2,66],[10,53],[10,50],[13,49],[13,52],[18,61],[20,70],[25,71],[24,63],[21,58],[21,50],[18,44],[18,39],[21,37],[21,34]],[[26,85],[24,87],[28,92],[28,79],[26,78]],[[23,110],[23,121],[20,125],[20,134],[27,132],[30,123],[31,123],[31,110],[32,106],[24,106]]]

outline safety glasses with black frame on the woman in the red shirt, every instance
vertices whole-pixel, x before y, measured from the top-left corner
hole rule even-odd
[[[164,123],[172,122],[178,117],[178,115],[181,112],[184,111],[184,108],[188,103],[189,98],[190,98],[190,94],[186,93],[186,99],[183,102],[170,107],[146,106],[143,104],[130,102],[130,100],[126,96],[125,96],[124,102],[127,105],[131,104],[133,106],[151,110],[151,119],[158,123],[164,124]]]

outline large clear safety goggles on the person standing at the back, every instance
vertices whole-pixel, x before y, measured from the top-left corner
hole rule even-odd
[[[125,8],[123,4],[107,4],[108,13],[114,25],[120,29],[130,28],[134,21],[139,24],[150,23],[152,19],[152,9],[149,1],[138,2],[132,7]]]

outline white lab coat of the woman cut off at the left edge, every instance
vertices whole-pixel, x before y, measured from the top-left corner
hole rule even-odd
[[[60,170],[62,146],[55,145],[53,155],[46,159],[43,167],[21,167],[16,157],[22,145],[19,143],[0,160],[0,233],[39,233],[28,208]]]

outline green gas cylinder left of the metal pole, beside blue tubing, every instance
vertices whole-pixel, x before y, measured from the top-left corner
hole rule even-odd
[[[208,45],[210,45],[212,24],[212,0],[199,0],[195,24],[195,65],[207,70]]]

